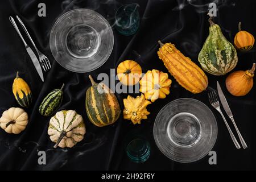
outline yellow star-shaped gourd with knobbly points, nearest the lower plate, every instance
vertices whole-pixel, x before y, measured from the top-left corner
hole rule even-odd
[[[147,111],[147,105],[151,104],[150,101],[145,100],[143,94],[136,98],[128,96],[123,99],[123,105],[125,109],[123,109],[123,118],[129,119],[131,122],[141,124],[141,119],[147,119],[147,115],[150,112]]]

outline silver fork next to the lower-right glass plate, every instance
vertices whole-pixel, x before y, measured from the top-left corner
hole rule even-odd
[[[236,137],[234,136],[232,130],[231,130],[230,127],[229,127],[228,122],[226,122],[226,119],[225,119],[225,117],[224,117],[224,115],[223,115],[223,113],[222,113],[222,111],[221,111],[221,109],[220,109],[220,102],[218,101],[218,96],[217,96],[217,94],[216,94],[215,91],[213,90],[213,91],[210,91],[210,92],[208,93],[208,97],[209,97],[210,105],[212,105],[212,106],[214,107],[214,109],[216,109],[216,110],[221,114],[221,116],[222,116],[222,118],[223,118],[223,120],[224,120],[224,122],[225,122],[225,125],[226,125],[226,127],[228,128],[228,130],[229,130],[230,137],[232,138],[232,140],[233,140],[235,146],[237,147],[237,149],[240,149],[240,148],[241,148],[241,147],[240,147],[240,144],[237,142]]]

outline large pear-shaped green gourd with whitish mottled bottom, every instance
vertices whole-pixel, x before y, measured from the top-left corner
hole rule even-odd
[[[199,53],[198,60],[204,71],[212,75],[225,75],[237,65],[237,51],[221,32],[220,26],[209,18],[209,35]]]

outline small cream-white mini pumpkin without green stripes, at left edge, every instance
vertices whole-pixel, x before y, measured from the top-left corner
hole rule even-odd
[[[3,112],[0,118],[0,126],[7,133],[19,134],[28,123],[28,115],[19,107],[11,107]]]

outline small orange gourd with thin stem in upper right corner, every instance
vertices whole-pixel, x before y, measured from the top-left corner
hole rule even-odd
[[[249,51],[253,48],[254,36],[249,32],[241,30],[241,22],[238,24],[238,32],[234,38],[234,44],[237,49]]]

